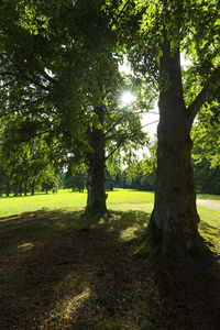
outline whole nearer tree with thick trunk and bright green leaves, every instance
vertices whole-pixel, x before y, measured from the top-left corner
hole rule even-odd
[[[114,2],[109,6],[114,7]],[[211,99],[219,85],[219,3],[124,1],[116,8],[116,20],[133,68],[145,75],[160,95],[151,234],[165,254],[194,255],[202,243],[190,165],[190,130],[207,97]],[[185,76],[197,87],[193,98],[184,88],[180,52],[191,61]]]

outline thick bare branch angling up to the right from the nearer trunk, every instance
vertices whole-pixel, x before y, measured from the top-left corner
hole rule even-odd
[[[191,102],[191,105],[188,107],[188,111],[190,112],[193,117],[193,121],[196,118],[197,113],[199,112],[201,106],[205,103],[206,98],[210,91],[210,88],[212,86],[212,82],[217,80],[217,78],[220,78],[220,66],[218,66],[213,72],[209,80],[207,81],[206,86],[201,89],[201,91],[198,94],[196,99]]]

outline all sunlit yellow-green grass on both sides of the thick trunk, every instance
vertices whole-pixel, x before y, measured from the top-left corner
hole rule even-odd
[[[201,199],[210,199],[219,204],[219,196],[199,195]],[[9,217],[13,215],[22,215],[37,210],[63,210],[64,212],[79,211],[86,206],[87,193],[76,193],[68,189],[61,189],[57,194],[22,197],[2,197],[0,198],[0,217]],[[154,193],[139,191],[134,189],[114,189],[108,191],[107,205],[109,210],[114,211],[139,211],[151,213],[153,210]],[[198,206],[200,216],[199,230],[207,240],[211,250],[220,253],[220,217],[219,212]],[[117,222],[116,222],[116,226]],[[136,230],[136,224],[127,229],[122,233],[123,237],[132,234]]]

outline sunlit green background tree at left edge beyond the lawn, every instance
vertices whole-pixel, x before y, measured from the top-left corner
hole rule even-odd
[[[7,118],[2,121],[6,125],[0,139],[1,163],[14,195],[26,195],[28,190],[34,195],[35,187],[40,187],[43,180],[53,180],[57,186],[55,141],[51,141],[53,146],[48,146],[45,133],[41,132],[41,124],[35,120],[14,113],[10,121]],[[35,134],[36,128],[41,134]]]

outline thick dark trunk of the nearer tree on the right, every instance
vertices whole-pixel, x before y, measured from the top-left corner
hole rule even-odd
[[[157,179],[150,229],[167,255],[186,256],[201,246],[190,164],[193,118],[182,86],[179,52],[166,41],[161,57]]]

